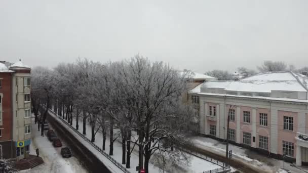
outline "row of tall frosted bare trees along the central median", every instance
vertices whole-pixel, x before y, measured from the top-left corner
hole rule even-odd
[[[109,137],[109,155],[113,155],[113,142],[121,140],[122,163],[127,168],[134,147],[138,147],[139,166],[146,172],[153,155],[172,164],[189,162],[185,153],[174,149],[187,144],[187,132],[196,128],[196,117],[181,97],[185,91],[184,76],[166,63],[150,62],[139,55],[107,63],[78,59],[52,70],[32,70],[35,121],[40,106],[46,104],[70,125],[75,118],[76,129],[82,120],[84,135],[89,123],[92,142],[97,132],[102,133],[103,150]],[[43,121],[42,135],[47,115],[47,109],[43,110],[38,121]]]

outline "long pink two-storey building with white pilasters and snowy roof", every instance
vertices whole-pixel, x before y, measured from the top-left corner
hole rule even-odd
[[[237,81],[205,81],[188,94],[198,105],[200,133],[308,163],[308,77],[290,71]]]

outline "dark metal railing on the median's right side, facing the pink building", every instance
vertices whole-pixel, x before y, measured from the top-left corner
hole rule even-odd
[[[199,158],[202,158],[204,160],[207,160],[209,162],[212,162],[214,164],[217,164],[218,166],[221,166],[220,168],[217,168],[217,169],[213,169],[213,170],[207,170],[207,171],[204,171],[204,173],[208,173],[208,172],[227,172],[227,171],[230,171],[230,165],[224,163],[224,162],[221,162],[221,161],[218,161],[216,159],[213,159],[211,157],[208,157],[204,154],[201,154],[201,153],[198,153],[198,152],[195,152],[195,151],[192,151],[192,150],[189,150],[189,149],[186,149],[186,148],[180,148],[181,150],[185,151],[186,153],[189,153],[191,155],[194,155],[196,157],[199,157]]]

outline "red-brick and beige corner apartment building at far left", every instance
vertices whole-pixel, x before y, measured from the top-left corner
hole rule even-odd
[[[0,156],[20,160],[31,142],[31,68],[21,61],[0,62]]]

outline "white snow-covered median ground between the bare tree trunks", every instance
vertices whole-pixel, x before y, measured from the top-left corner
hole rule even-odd
[[[75,119],[73,120],[73,127],[75,126]],[[82,133],[82,120],[79,120],[79,132]],[[91,139],[91,126],[87,124],[87,138]],[[95,137],[95,144],[97,146],[102,146],[102,134],[98,132]],[[118,162],[122,162],[122,144],[120,140],[117,142],[114,142],[114,150],[113,150],[113,158],[117,160]],[[109,139],[106,140],[106,146],[105,151],[109,152]],[[131,172],[135,172],[135,167],[138,165],[138,150],[137,148],[134,149],[131,155],[131,168],[129,169]],[[213,164],[211,162],[208,162],[204,159],[192,156],[190,157],[190,164],[189,165],[181,165],[179,166],[179,169],[177,169],[177,172],[192,172],[192,173],[199,173],[203,172],[205,170],[211,170],[215,168],[219,168],[220,166]],[[149,171],[150,172],[161,172],[162,170],[159,169],[158,166],[155,165],[155,163],[149,164]],[[166,172],[166,170],[165,170]]]

